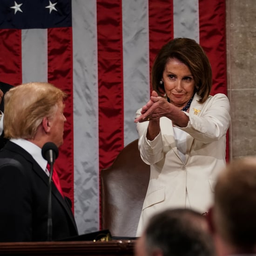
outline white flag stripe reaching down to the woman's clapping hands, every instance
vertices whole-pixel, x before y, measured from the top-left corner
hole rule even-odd
[[[135,112],[149,99],[148,2],[122,1],[124,146],[138,138]]]

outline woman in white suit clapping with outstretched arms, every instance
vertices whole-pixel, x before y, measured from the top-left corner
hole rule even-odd
[[[137,236],[163,209],[206,212],[216,176],[226,164],[229,100],[210,95],[212,71],[195,40],[176,38],[162,47],[151,72],[153,91],[136,112],[142,160],[150,180]]]

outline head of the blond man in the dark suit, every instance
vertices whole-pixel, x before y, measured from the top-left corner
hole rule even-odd
[[[42,146],[47,141],[63,143],[63,101],[61,89],[45,82],[13,87],[5,95],[5,137],[26,139]]]

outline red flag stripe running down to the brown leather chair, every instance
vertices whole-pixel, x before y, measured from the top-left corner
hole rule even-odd
[[[123,148],[122,6],[97,0],[99,168],[107,168]]]

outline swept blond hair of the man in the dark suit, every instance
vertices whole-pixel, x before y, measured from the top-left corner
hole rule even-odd
[[[24,83],[11,88],[4,98],[5,137],[33,139],[43,118],[54,115],[57,102],[66,98],[66,93],[47,82]]]

